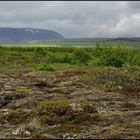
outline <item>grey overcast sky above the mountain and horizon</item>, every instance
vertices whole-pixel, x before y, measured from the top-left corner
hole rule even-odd
[[[140,36],[140,2],[0,1],[0,26],[49,29],[71,38]]]

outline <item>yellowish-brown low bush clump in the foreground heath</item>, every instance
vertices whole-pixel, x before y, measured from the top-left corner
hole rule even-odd
[[[32,110],[34,117],[38,117],[43,126],[49,125],[79,125],[91,123],[94,120],[91,114],[97,114],[95,107],[86,104],[82,110],[74,110],[66,99],[42,101]],[[88,118],[88,120],[87,120]]]

